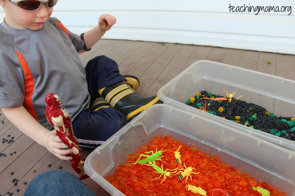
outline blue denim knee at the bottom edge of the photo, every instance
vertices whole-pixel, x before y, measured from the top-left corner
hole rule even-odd
[[[37,175],[24,193],[24,196],[34,195],[96,196],[76,176],[61,170],[47,171]]]

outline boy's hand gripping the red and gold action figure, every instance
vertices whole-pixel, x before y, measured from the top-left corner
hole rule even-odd
[[[55,130],[48,131],[44,134],[42,138],[43,145],[47,148],[49,152],[57,156],[61,160],[72,160],[71,156],[65,156],[72,153],[72,150],[69,149],[58,137]]]

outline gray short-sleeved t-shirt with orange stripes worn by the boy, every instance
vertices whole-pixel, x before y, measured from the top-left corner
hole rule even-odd
[[[77,51],[84,41],[49,18],[37,31],[0,24],[0,107],[23,105],[47,129],[45,96],[55,92],[72,120],[89,107],[86,73]]]

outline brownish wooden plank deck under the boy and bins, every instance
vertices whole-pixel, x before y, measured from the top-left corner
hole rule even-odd
[[[227,49],[209,46],[164,44],[144,41],[100,40],[90,52],[80,54],[83,65],[97,55],[114,59],[121,74],[131,74],[140,78],[137,93],[141,96],[157,94],[158,90],[180,72],[198,60],[211,60],[246,69],[295,79],[295,55]],[[271,64],[267,64],[271,62]],[[13,138],[13,142],[8,141]],[[38,174],[47,170],[61,170],[76,175],[69,161],[57,157],[22,134],[0,110],[0,195],[13,192],[23,195],[28,183]],[[15,153],[14,153],[15,152]],[[12,155],[10,155],[12,153]],[[83,151],[84,157],[90,151]],[[50,167],[47,165],[51,164]],[[36,171],[36,172],[34,172]],[[14,172],[11,174],[11,172]],[[12,180],[18,180],[14,186]],[[23,182],[27,182],[26,185]],[[97,195],[109,195],[96,182],[83,180]],[[16,190],[19,189],[19,192]]]

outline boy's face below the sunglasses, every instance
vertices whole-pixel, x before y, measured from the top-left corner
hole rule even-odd
[[[6,24],[15,29],[41,29],[53,12],[53,8],[48,8],[46,4],[36,11],[23,10],[7,0],[0,0],[0,5],[5,12]]]

